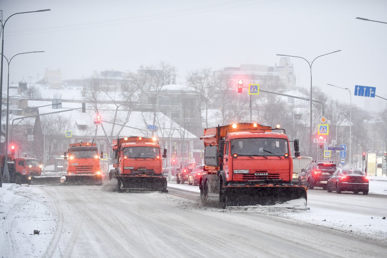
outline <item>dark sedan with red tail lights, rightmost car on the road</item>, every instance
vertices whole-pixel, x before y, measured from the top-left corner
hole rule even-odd
[[[338,169],[328,180],[327,191],[341,193],[341,191],[351,191],[354,194],[362,192],[368,194],[368,178],[358,169]]]

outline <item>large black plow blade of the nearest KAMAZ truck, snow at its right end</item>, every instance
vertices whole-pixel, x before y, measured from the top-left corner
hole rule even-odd
[[[223,198],[224,206],[305,207],[307,189],[303,186],[224,186]]]

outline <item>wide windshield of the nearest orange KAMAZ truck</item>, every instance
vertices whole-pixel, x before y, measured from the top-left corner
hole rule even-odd
[[[280,138],[244,138],[231,141],[231,153],[240,156],[284,156],[289,153],[288,141]]]

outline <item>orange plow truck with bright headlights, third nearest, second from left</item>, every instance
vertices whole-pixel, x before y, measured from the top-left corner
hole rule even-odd
[[[99,159],[103,158],[103,151],[98,155],[98,148],[94,143],[71,143],[70,148],[63,153],[68,165],[66,184],[96,184],[102,185],[102,173]]]

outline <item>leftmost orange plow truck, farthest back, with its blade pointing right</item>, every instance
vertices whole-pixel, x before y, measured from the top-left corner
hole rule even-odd
[[[5,154],[0,155],[1,171],[4,172]],[[15,184],[60,184],[60,176],[41,175],[42,165],[36,158],[17,157],[8,154],[9,181]]]

